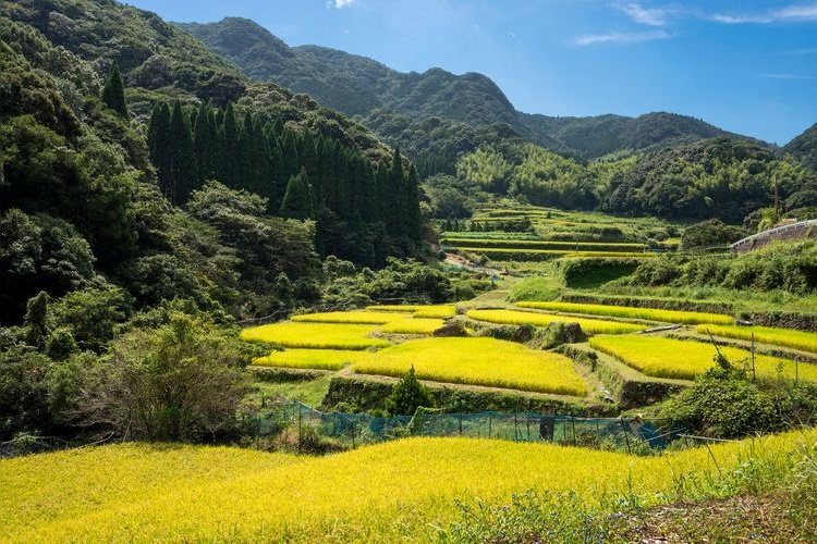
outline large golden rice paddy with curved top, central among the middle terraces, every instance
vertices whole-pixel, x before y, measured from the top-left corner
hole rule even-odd
[[[585,384],[569,358],[495,338],[424,338],[383,349],[353,364],[362,374],[583,396]]]

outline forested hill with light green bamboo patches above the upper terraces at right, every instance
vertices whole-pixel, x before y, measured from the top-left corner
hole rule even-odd
[[[817,173],[749,141],[715,138],[589,164],[508,140],[463,154],[461,183],[557,208],[740,223],[771,206],[817,206]]]

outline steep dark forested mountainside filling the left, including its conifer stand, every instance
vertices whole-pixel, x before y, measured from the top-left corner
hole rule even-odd
[[[100,345],[162,300],[266,314],[320,296],[322,256],[422,247],[399,152],[153,13],[0,1],[0,323],[45,292]]]

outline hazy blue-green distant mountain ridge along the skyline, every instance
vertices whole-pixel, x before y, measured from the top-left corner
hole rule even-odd
[[[458,76],[442,69],[402,73],[337,49],[289,47],[247,18],[178,25],[249,77],[308,94],[350,115],[365,118],[377,110],[388,110],[417,120],[439,116],[473,125],[505,123],[531,141],[584,159],[719,136],[752,139],[695,118],[667,112],[637,118],[523,113],[483,74],[470,72]]]

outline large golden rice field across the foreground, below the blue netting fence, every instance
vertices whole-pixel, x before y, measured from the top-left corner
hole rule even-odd
[[[455,499],[574,491],[612,512],[624,495],[644,506],[718,496],[741,468],[744,481],[747,459],[782,482],[816,438],[791,432],[649,457],[429,437],[328,457],[166,444],[71,449],[0,460],[0,540],[428,541],[432,527],[459,518]]]

